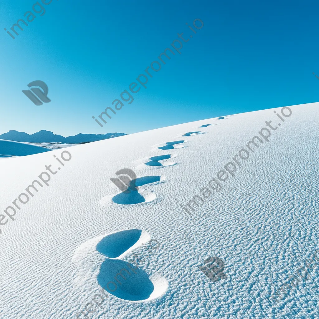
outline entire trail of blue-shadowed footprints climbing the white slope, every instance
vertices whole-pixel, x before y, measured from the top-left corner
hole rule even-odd
[[[222,120],[225,118],[219,117],[218,119]],[[204,124],[200,128],[210,125],[216,124]],[[204,133],[202,131],[192,131],[186,132],[182,136],[189,137]],[[160,151],[183,148],[186,142],[186,140],[165,142],[156,145],[156,148]],[[173,166],[176,163],[170,160],[176,156],[176,154],[152,156],[144,160],[144,164],[142,166],[139,165],[139,168],[152,167],[152,169],[158,169]],[[156,195],[143,187],[160,185],[165,182],[165,179],[166,177],[163,175],[137,177],[130,183],[130,187],[138,187],[137,191],[131,191],[130,193],[120,192],[112,197],[112,201],[120,205],[136,205],[150,202],[156,198]],[[96,250],[105,257],[105,261],[100,266],[97,281],[101,287],[104,287],[104,289],[117,298],[130,301],[149,300],[159,297],[167,288],[165,279],[160,275],[157,275],[157,279],[152,281],[151,276],[144,270],[136,268],[132,263],[127,263],[120,259],[141,244],[144,245],[141,239],[142,237],[145,239],[145,234],[148,235],[148,239],[150,238],[147,232],[144,232],[144,235],[142,233],[142,230],[137,229],[119,231],[103,237],[96,245]],[[115,283],[115,280],[118,281],[119,276],[126,279],[121,280],[121,284],[118,284],[117,288],[114,289],[113,286],[110,286],[110,283]]]

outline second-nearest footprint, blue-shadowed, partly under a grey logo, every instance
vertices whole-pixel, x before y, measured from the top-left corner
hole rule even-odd
[[[131,181],[130,184],[139,187],[139,186],[144,186],[146,184],[152,184],[152,183],[159,184],[159,182],[164,181],[165,179],[166,179],[165,176],[159,176],[159,175],[144,176]],[[134,204],[140,204],[144,202],[151,202],[155,198],[156,198],[156,195],[154,193],[146,191],[145,189],[138,189],[137,191],[132,191],[128,194],[121,192],[115,195],[112,198],[112,201],[120,205],[134,205]]]

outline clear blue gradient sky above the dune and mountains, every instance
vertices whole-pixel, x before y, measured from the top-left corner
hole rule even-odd
[[[3,29],[35,2],[1,1],[0,134],[133,133],[319,100],[317,1],[53,0],[13,40]],[[94,122],[182,32],[182,54],[103,128]],[[50,103],[21,92],[34,80]]]

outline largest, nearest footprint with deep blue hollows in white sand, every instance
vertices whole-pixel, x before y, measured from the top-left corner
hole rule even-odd
[[[155,280],[152,282],[152,276],[140,267],[117,259],[140,246],[146,237],[149,240],[149,234],[145,233],[142,235],[140,229],[124,230],[103,237],[96,245],[96,250],[106,257],[97,281],[117,298],[129,301],[150,300],[159,297],[167,289],[167,282],[161,276],[153,276]]]

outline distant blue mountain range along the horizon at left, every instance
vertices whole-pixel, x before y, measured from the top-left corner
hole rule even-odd
[[[61,143],[61,144],[80,144],[85,142],[95,142],[112,137],[127,135],[125,133],[106,133],[106,134],[77,134],[74,136],[64,137],[62,135],[53,134],[53,132],[41,130],[34,134],[27,134],[10,130],[7,133],[1,134],[0,139],[28,142],[28,143]]]

